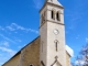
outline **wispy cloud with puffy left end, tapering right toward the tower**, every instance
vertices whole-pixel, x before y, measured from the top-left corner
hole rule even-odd
[[[33,33],[38,34],[38,31],[33,30],[33,29],[23,28],[23,26],[21,26],[21,25],[18,25],[16,23],[11,23],[11,25],[7,26],[7,29],[8,29],[9,31],[21,30],[21,31],[33,32]],[[14,33],[15,33],[15,32],[14,32]],[[16,33],[18,33],[18,32],[16,32]]]

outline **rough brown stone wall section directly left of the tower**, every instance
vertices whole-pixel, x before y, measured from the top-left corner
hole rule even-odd
[[[35,38],[31,44],[26,45],[21,51],[21,65],[20,66],[38,66],[40,61],[40,37]]]

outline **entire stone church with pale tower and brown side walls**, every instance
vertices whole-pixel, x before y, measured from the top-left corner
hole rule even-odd
[[[40,35],[21,48],[2,66],[70,66],[66,50],[64,7],[45,0],[40,10]]]

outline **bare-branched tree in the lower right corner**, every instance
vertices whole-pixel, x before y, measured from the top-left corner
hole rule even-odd
[[[72,66],[88,66],[88,44],[81,47],[79,55]]]

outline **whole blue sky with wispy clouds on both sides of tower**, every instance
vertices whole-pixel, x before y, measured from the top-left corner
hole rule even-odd
[[[58,0],[64,7],[66,44],[74,56],[88,43],[88,0]],[[40,35],[44,0],[0,0],[0,66]]]

